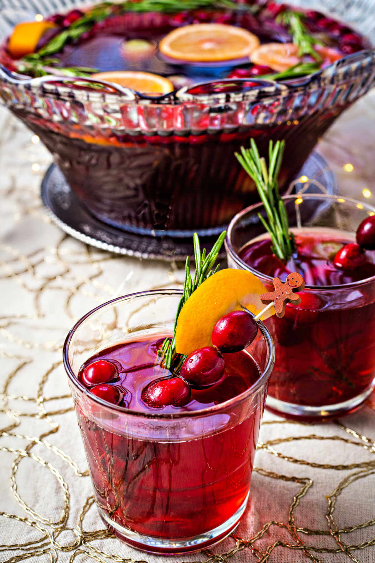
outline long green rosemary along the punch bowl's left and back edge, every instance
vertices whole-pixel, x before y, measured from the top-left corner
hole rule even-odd
[[[125,12],[166,12],[173,14],[174,12],[197,10],[198,8],[255,11],[255,6],[240,5],[239,7],[232,0],[139,0],[139,2],[128,0],[119,3],[103,2],[85,12],[69,28],[57,33],[39,51],[22,57],[18,61],[18,69],[20,72],[31,72],[35,76],[58,73],[66,76],[87,77],[97,72],[97,69],[76,66],[62,68],[58,66],[57,59],[51,59],[51,55],[60,52],[67,43],[78,41],[83,33],[91,31],[94,25],[112,15],[121,15]]]

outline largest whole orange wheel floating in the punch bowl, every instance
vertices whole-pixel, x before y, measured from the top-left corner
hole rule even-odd
[[[256,35],[234,25],[193,24],[166,35],[159,50],[171,59],[214,62],[249,57],[259,44]]]

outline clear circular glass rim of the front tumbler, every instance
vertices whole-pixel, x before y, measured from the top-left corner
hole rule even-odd
[[[126,415],[138,417],[138,418],[154,419],[155,421],[157,421],[157,420],[160,421],[160,420],[167,420],[167,419],[176,420],[176,419],[182,419],[182,418],[187,418],[187,419],[188,418],[197,418],[197,417],[204,417],[206,415],[215,414],[217,412],[220,412],[223,409],[227,409],[228,407],[231,407],[232,405],[237,405],[237,404],[243,403],[243,401],[245,401],[246,399],[249,399],[261,387],[263,387],[263,385],[269,379],[269,377],[272,373],[274,363],[275,363],[275,346],[274,346],[272,336],[269,333],[269,330],[265,327],[265,325],[261,321],[257,321],[257,324],[258,324],[258,327],[259,327],[261,333],[263,334],[263,336],[265,338],[265,343],[266,343],[268,350],[269,350],[269,354],[268,354],[269,357],[268,357],[268,361],[266,363],[266,366],[265,366],[263,372],[261,373],[260,377],[255,381],[255,383],[253,383],[253,385],[251,385],[246,391],[243,391],[240,395],[236,395],[236,397],[233,397],[232,399],[224,401],[224,403],[219,403],[218,405],[210,406],[210,407],[207,407],[207,408],[204,408],[204,409],[193,410],[193,411],[183,411],[183,412],[169,413],[169,414],[146,413],[146,412],[141,412],[141,411],[138,411],[138,410],[128,409],[125,406],[112,405],[110,403],[107,403],[107,401],[101,399],[100,397],[97,397],[96,395],[93,395],[91,392],[89,392],[89,390],[86,387],[84,387],[84,385],[78,380],[78,378],[74,374],[73,368],[70,365],[68,352],[69,352],[70,343],[71,343],[71,341],[74,337],[76,330],[78,330],[79,327],[86,320],[88,320],[93,314],[95,314],[97,311],[100,311],[104,307],[109,306],[109,305],[113,305],[114,303],[119,303],[121,301],[130,301],[130,300],[137,298],[137,297],[147,297],[147,296],[152,297],[152,296],[157,296],[157,295],[159,295],[159,296],[182,296],[182,293],[183,292],[182,292],[181,289],[162,289],[162,290],[161,289],[150,289],[148,291],[129,293],[129,294],[126,294],[124,296],[116,297],[115,299],[106,301],[105,303],[102,303],[101,305],[94,307],[94,309],[88,311],[78,321],[76,321],[74,326],[69,330],[69,333],[67,333],[67,336],[66,336],[65,342],[64,342],[64,346],[63,346],[63,350],[62,350],[62,360],[63,360],[65,371],[66,371],[67,376],[69,377],[71,383],[73,383],[74,387],[76,388],[76,390],[78,390],[80,392],[80,394],[86,395],[94,403],[98,403],[101,406],[104,406],[105,408],[107,408],[109,410],[115,410],[118,413],[123,413],[123,414],[126,414]]]

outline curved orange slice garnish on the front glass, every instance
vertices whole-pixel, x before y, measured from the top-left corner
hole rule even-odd
[[[212,346],[211,335],[217,321],[241,305],[255,315],[264,309],[260,295],[267,289],[254,274],[227,268],[207,278],[188,298],[177,321],[175,349],[178,354],[191,354],[204,346]],[[274,315],[266,311],[261,320]]]

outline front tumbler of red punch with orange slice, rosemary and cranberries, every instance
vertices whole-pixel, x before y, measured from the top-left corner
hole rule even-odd
[[[259,318],[273,311],[261,303],[265,287],[254,275],[214,273],[224,236],[209,254],[195,236],[197,274],[187,260],[183,291],[105,303],[75,325],[64,347],[100,515],[146,551],[211,546],[236,527],[250,494],[274,363]],[[257,330],[246,349],[222,355],[213,329],[241,306]],[[110,381],[108,365],[116,367]],[[93,387],[93,379],[106,383]]]

